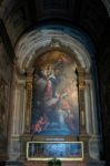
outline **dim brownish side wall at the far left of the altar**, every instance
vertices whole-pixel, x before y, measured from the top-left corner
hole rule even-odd
[[[0,41],[0,159],[7,157],[12,62]]]

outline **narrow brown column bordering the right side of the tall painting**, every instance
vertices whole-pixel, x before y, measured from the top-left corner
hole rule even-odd
[[[78,91],[79,91],[79,139],[83,142],[83,159],[89,159],[89,147],[86,124],[86,101],[84,101],[84,89],[86,89],[86,69],[79,68],[78,71]]]

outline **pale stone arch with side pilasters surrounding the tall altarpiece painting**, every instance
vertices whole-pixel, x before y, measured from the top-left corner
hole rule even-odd
[[[31,101],[32,101],[32,73],[34,61],[42,54],[49,51],[61,51],[69,54],[78,65],[78,89],[79,89],[79,105],[80,105],[80,135],[82,139],[84,135],[84,153],[90,151],[89,156],[93,156],[91,144],[94,142],[99,145],[98,122],[97,122],[97,104],[94,94],[94,82],[92,77],[92,64],[94,63],[96,51],[91,40],[80,31],[71,30],[66,27],[54,29],[38,28],[24,34],[16,45],[16,65],[14,80],[17,87],[14,91],[14,105],[13,108],[13,128],[12,137],[16,135],[30,135],[31,124]],[[27,76],[26,76],[27,75]],[[20,117],[20,112],[23,116]],[[18,116],[17,116],[18,115]],[[17,117],[16,117],[17,116]],[[17,120],[17,121],[16,121]],[[19,121],[21,125],[19,126]],[[90,139],[88,138],[90,136]],[[74,138],[77,139],[77,137]],[[12,143],[11,138],[11,143]],[[18,145],[19,146],[19,145]],[[13,147],[12,147],[13,148]],[[10,149],[12,149],[10,148]],[[98,147],[99,148],[99,147]],[[14,153],[14,149],[12,149]],[[98,149],[97,158],[99,158]],[[86,153],[87,154],[87,153]],[[87,154],[88,156],[88,154]],[[89,157],[88,156],[88,157]]]

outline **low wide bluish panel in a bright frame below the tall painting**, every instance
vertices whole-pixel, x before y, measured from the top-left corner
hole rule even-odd
[[[61,160],[82,160],[82,142],[28,142],[28,160],[48,160],[58,158]]]

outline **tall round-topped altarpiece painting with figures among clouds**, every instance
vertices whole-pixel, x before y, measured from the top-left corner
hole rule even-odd
[[[78,135],[79,108],[76,63],[52,51],[34,63],[31,133]]]

